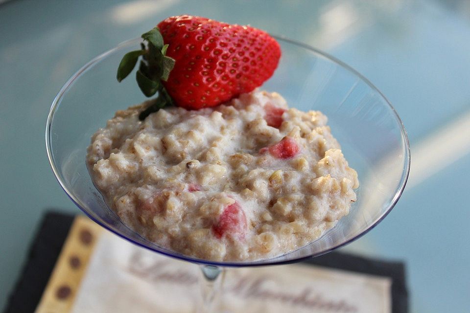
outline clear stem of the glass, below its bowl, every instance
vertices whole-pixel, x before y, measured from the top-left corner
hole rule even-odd
[[[197,313],[214,313],[218,308],[220,291],[225,277],[225,270],[216,266],[201,266],[202,275],[199,279],[201,296]]]

